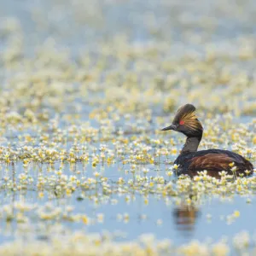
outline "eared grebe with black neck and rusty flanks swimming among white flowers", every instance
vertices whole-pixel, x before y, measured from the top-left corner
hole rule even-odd
[[[188,174],[190,177],[197,175],[197,172],[207,170],[212,177],[220,177],[219,172],[225,171],[228,174],[239,176],[241,173],[246,176],[253,173],[253,165],[240,154],[222,149],[207,149],[197,151],[201,142],[203,128],[201,122],[195,116],[195,107],[186,104],[177,110],[172,125],[162,131],[173,130],[182,132],[186,137],[186,143],[174,164],[177,167],[177,175]]]

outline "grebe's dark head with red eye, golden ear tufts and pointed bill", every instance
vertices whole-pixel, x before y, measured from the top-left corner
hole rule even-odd
[[[195,107],[192,104],[186,104],[178,108],[172,125],[161,131],[167,130],[182,132],[187,137],[201,137],[203,128],[201,122],[195,116]]]

